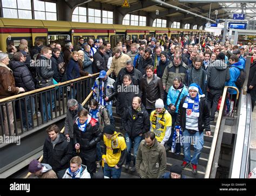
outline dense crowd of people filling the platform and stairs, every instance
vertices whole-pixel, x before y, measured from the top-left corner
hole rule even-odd
[[[88,106],[84,108],[76,100],[77,93],[71,92],[64,134],[56,125],[47,129],[43,162],[35,168],[34,160],[30,172],[46,178],[48,175],[42,174],[52,168],[55,174],[51,172],[51,177],[89,178],[102,162],[106,178],[120,178],[123,164],[126,170],[137,171],[140,178],[181,177],[181,169],[188,166],[197,174],[203,132],[211,135],[210,122],[214,121],[224,87],[241,89],[248,55],[252,55],[247,73],[252,110],[255,103],[256,45],[232,45],[220,39],[199,39],[198,35],[171,39],[164,34],[118,40],[113,48],[102,39],[82,37],[74,47],[70,41],[64,47],[58,41],[51,41],[49,46],[36,41],[29,51],[26,40],[21,40],[19,52],[14,45],[8,46],[8,53],[0,53],[1,98],[99,73]],[[233,89],[228,92],[237,93]],[[50,117],[50,104],[57,109],[50,101],[53,97],[46,97],[42,100],[44,121]],[[29,105],[24,103],[23,110],[26,106],[35,113]],[[115,128],[113,105],[122,118],[120,130],[125,134]],[[11,107],[8,105],[9,111]],[[191,141],[185,140],[183,163],[174,164],[171,172],[165,173],[166,151],[180,151],[177,137],[194,137],[194,155],[191,157]]]

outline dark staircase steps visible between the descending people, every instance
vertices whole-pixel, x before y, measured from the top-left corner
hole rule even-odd
[[[116,114],[116,107],[112,107],[112,110],[113,110],[113,117],[114,117],[114,121],[116,123],[117,131],[122,132],[122,134],[125,134],[124,130],[119,129],[120,125],[121,125],[121,117]],[[213,135],[214,129],[215,129],[215,126],[211,125],[212,135]],[[197,165],[197,170],[198,170],[197,174],[196,175],[192,174],[191,166],[187,166],[183,170],[183,175],[185,175],[186,178],[204,178],[206,165],[208,162],[208,156],[209,156],[209,153],[211,150],[212,138],[213,138],[213,136],[206,136],[206,134],[204,132],[204,148],[201,151],[201,156],[199,158],[199,162]],[[103,141],[101,144],[102,144],[101,146],[103,146]],[[193,155],[193,153],[194,153],[194,146],[193,146],[193,144],[191,144],[191,155]],[[133,156],[133,153],[132,153],[132,156]],[[181,165],[183,163],[184,154],[183,154],[182,148],[181,148],[180,155],[175,155],[171,151],[167,151],[166,156],[167,156],[166,172],[170,171],[170,167],[172,164]],[[123,167],[122,167],[121,178],[139,178],[138,173],[136,171],[131,172],[130,170],[125,170],[124,166],[125,165],[123,165]]]

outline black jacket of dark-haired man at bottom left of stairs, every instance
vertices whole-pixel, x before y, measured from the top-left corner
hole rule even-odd
[[[44,142],[44,157],[42,163],[48,163],[52,170],[60,171],[69,167],[69,161],[72,158],[72,148],[64,134],[59,133],[59,142],[53,145],[50,137]]]

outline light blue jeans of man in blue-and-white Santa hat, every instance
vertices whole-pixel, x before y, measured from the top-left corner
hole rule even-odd
[[[192,136],[192,137],[191,137]],[[190,155],[190,144],[192,139],[194,140],[194,155],[191,158]],[[201,150],[203,149],[203,145],[204,145],[204,132],[202,131],[201,133],[199,133],[199,131],[196,131],[196,134],[190,134],[187,129],[185,129],[183,131],[183,138],[182,138],[183,142],[183,151],[184,151],[184,160],[187,163],[192,163],[197,165],[198,164],[198,159],[200,157],[201,154]]]

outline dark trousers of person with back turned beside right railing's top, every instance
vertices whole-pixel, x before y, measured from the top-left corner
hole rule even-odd
[[[214,121],[215,111],[217,110],[218,101],[220,96],[223,94],[223,90],[215,90],[211,89],[210,92],[207,93],[207,104],[209,111],[211,111],[210,120]]]

